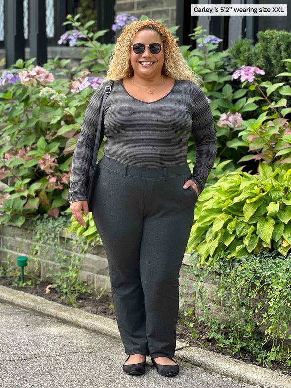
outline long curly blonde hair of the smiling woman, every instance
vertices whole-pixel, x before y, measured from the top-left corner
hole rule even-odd
[[[109,60],[109,66],[104,81],[117,81],[134,75],[130,63],[130,46],[138,31],[155,30],[161,37],[164,47],[164,64],[162,74],[175,80],[189,79],[198,86],[203,81],[190,68],[179,50],[179,46],[170,31],[162,23],[154,19],[135,20],[127,25],[116,41],[116,45]]]

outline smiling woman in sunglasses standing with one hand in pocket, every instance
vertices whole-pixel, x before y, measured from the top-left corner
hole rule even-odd
[[[70,207],[86,227],[85,182],[91,164],[104,87],[104,156],[92,216],[105,247],[128,374],[177,375],[172,359],[179,312],[179,271],[198,195],[216,156],[213,116],[198,76],[169,30],[138,20],[117,39],[105,80],[92,96],[73,154]],[[196,146],[193,174],[189,136]]]

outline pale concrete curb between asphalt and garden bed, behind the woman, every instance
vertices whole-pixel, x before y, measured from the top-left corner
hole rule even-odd
[[[2,285],[0,285],[0,302],[34,311],[121,342],[117,322],[100,315],[64,306],[40,296]],[[178,340],[175,358],[242,383],[259,385],[261,388],[291,388],[291,377],[289,376],[256,365],[246,364],[243,361],[200,349]]]

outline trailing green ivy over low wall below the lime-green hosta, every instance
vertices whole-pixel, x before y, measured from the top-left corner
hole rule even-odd
[[[191,274],[195,308],[187,308],[184,300],[184,323],[193,327],[196,318],[205,323],[203,347],[209,339],[218,349],[229,349],[241,357],[247,349],[263,366],[275,360],[285,371],[286,365],[291,365],[291,253],[284,257],[263,249],[233,259],[223,252],[215,263],[203,266],[192,255],[185,283]],[[206,282],[213,284],[211,289]],[[196,306],[200,307],[199,317]],[[195,330],[192,335],[197,337]]]

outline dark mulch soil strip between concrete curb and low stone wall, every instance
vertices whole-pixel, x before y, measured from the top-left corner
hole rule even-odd
[[[69,298],[66,297],[64,299],[60,299],[61,293],[56,292],[54,289],[48,287],[50,283],[47,281],[41,282],[40,284],[34,286],[26,285],[25,287],[12,286],[12,283],[13,281],[11,278],[0,277],[0,285],[27,292],[29,294],[41,296],[42,298],[48,299],[50,301],[54,301],[62,305],[72,307],[72,304],[69,302]],[[47,287],[49,289],[48,293],[46,293]],[[97,297],[97,294],[81,294],[77,300],[79,303],[77,308],[87,311],[89,313],[99,314],[103,317],[116,320],[112,299],[109,298],[108,295],[102,295],[99,299],[97,299]],[[184,319],[184,315],[179,312],[177,322],[177,340],[186,342],[198,348],[202,348],[212,352],[222,353],[226,356],[230,356],[231,358],[244,361],[248,364],[253,364],[262,367],[261,364],[256,361],[256,357],[246,349],[242,349],[240,355],[239,352],[237,352],[236,354],[232,354],[229,350],[217,346],[215,339],[209,339],[207,337],[207,327],[203,322],[197,322],[196,319],[194,322],[192,322],[193,327],[190,328],[185,325]],[[192,331],[196,332],[198,337],[193,337]],[[284,373],[286,376],[291,376],[291,368],[281,364],[278,361],[273,361],[273,365],[269,366],[269,368],[274,371]]]

